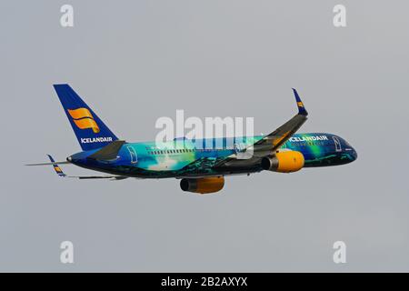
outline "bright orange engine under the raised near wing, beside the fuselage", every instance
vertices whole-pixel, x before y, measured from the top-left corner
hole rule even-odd
[[[273,157],[264,157],[261,163],[264,170],[291,173],[303,168],[304,156],[296,151],[280,152]]]

